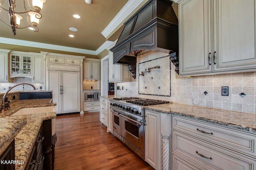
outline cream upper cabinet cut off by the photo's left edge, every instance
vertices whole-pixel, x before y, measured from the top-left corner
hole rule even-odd
[[[0,82],[8,82],[8,54],[10,50],[0,49]]]

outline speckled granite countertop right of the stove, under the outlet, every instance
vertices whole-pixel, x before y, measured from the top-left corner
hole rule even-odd
[[[146,110],[165,114],[180,115],[200,121],[256,133],[256,114],[230,111],[185,104],[160,104],[145,106]]]

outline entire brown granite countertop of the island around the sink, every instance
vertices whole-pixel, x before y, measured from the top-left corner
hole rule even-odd
[[[56,103],[50,102],[52,102],[52,99],[18,100],[10,104],[10,109],[0,113],[0,129],[2,124],[7,125],[9,123],[9,126],[12,127],[11,129],[6,127],[5,131],[4,129],[0,130],[0,143],[6,143],[5,145],[8,146],[12,141],[11,139],[14,139],[16,136],[15,160],[24,160],[24,164],[15,165],[16,170],[23,170],[25,168],[42,122],[47,119],[56,118],[56,112],[11,115],[22,108],[56,106]],[[2,148],[1,146],[1,150],[4,150],[4,147]]]

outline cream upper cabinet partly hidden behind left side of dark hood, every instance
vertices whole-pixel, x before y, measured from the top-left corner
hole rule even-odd
[[[113,64],[113,53],[109,51],[108,55],[108,82],[131,81],[131,72],[128,66],[122,64]]]

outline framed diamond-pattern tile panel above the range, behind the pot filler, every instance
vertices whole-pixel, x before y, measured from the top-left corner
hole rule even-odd
[[[160,68],[152,68],[160,66]],[[138,64],[138,71],[145,72],[139,76],[139,94],[170,96],[170,57],[164,56]]]

